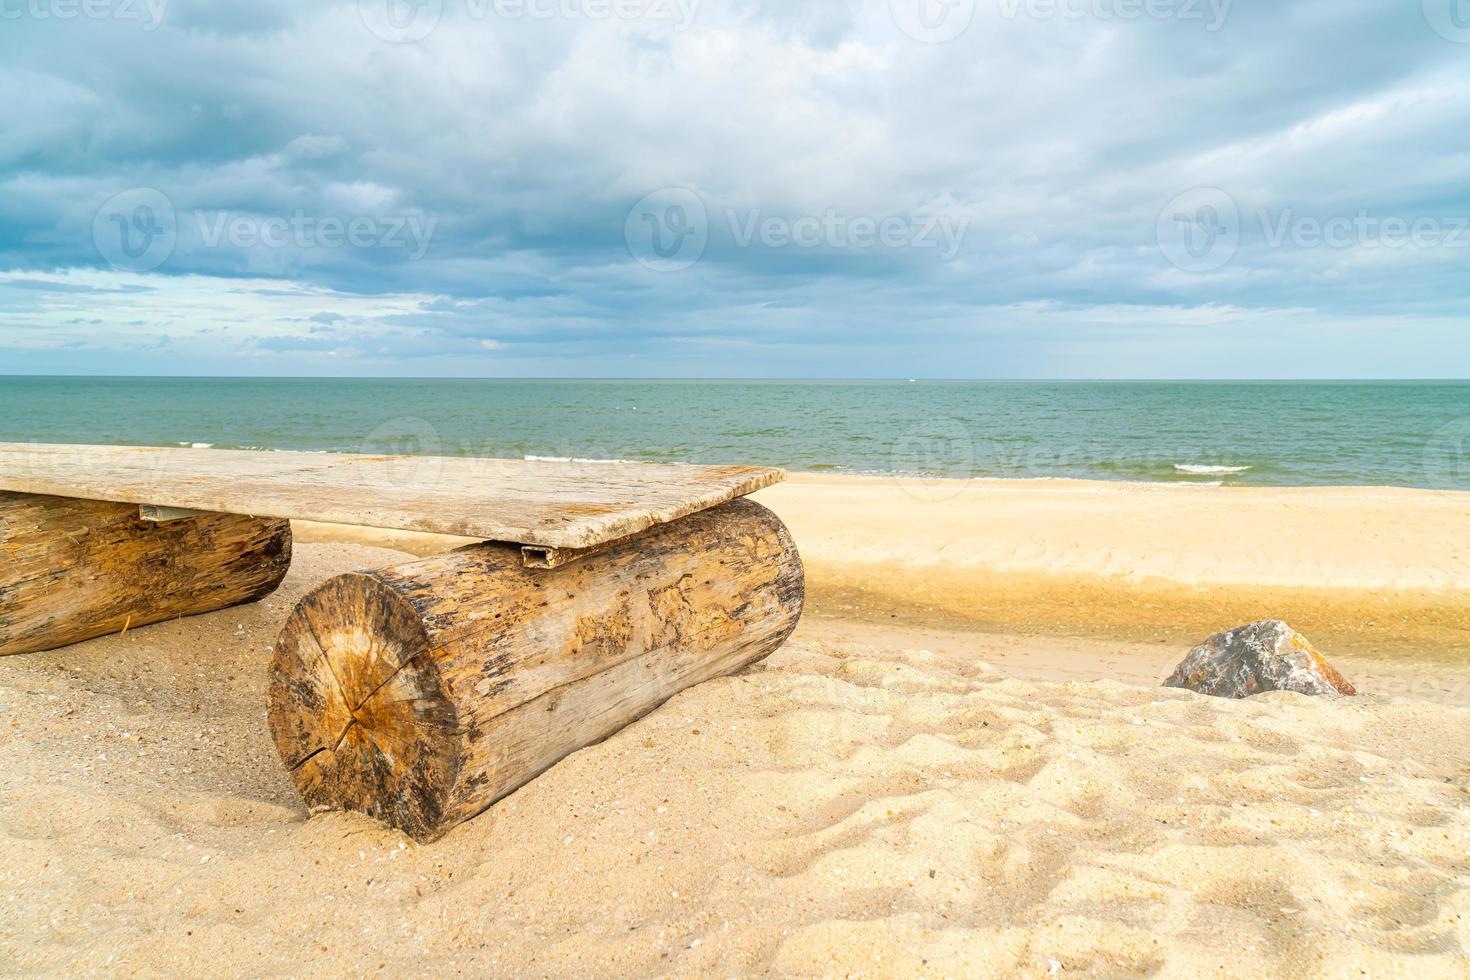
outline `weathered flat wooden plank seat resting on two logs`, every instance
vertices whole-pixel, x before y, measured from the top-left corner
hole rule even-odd
[[[592,548],[785,479],[753,466],[0,442],[0,489]]]

